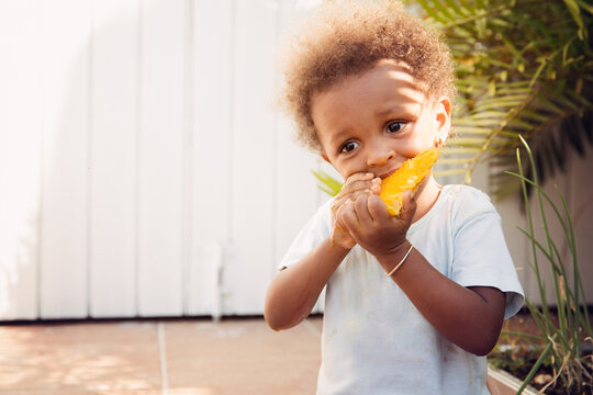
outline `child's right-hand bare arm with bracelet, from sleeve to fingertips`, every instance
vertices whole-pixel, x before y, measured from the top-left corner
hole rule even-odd
[[[362,248],[390,272],[410,249],[405,234],[415,213],[411,195],[399,217],[391,217],[373,194],[346,202],[338,222]],[[421,314],[447,339],[474,354],[496,343],[504,315],[504,294],[492,287],[463,287],[443,275],[417,250],[392,274]]]

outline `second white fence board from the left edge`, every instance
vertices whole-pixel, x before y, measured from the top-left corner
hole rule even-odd
[[[40,314],[42,318],[86,317],[90,1],[45,1],[41,12]]]

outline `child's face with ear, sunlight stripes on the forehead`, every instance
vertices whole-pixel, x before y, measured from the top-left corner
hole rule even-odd
[[[345,180],[357,172],[385,178],[445,143],[450,127],[449,99],[428,100],[392,60],[315,94],[311,113],[323,157]]]

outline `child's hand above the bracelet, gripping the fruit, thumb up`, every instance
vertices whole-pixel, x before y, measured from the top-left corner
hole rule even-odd
[[[374,193],[359,193],[355,201],[345,201],[335,212],[336,223],[350,238],[379,261],[401,255],[406,233],[416,212],[413,193],[404,193],[399,216],[391,216],[383,201]]]

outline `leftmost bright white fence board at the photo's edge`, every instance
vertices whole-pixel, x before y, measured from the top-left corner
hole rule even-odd
[[[38,313],[38,7],[0,2],[0,319]]]

